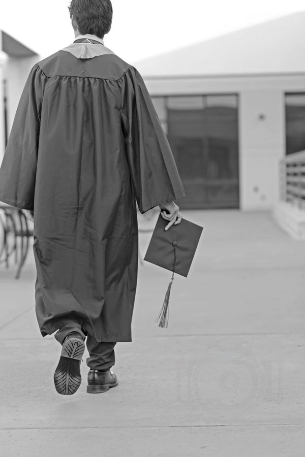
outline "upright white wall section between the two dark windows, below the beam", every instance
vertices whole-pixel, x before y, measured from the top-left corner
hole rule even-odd
[[[279,161],[285,155],[283,91],[240,92],[239,150],[240,208],[271,208],[279,200]]]

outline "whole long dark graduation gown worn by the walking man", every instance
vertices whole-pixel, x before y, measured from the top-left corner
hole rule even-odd
[[[34,210],[36,314],[97,341],[131,341],[141,213],[184,197],[144,82],[102,44],[37,63],[0,169],[0,200]],[[145,306],[145,304],[142,304]]]

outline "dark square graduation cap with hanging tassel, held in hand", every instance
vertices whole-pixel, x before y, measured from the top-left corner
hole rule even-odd
[[[156,319],[159,327],[168,325],[168,304],[174,273],[187,277],[203,230],[200,225],[182,219],[165,231],[168,220],[159,216],[144,260],[172,272],[161,311]]]

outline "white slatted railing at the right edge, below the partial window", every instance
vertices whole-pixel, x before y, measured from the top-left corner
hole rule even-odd
[[[305,151],[287,155],[280,170],[281,200],[305,211]]]

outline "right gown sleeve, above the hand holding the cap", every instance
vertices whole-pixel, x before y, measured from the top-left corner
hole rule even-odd
[[[122,128],[137,204],[141,213],[185,197],[164,130],[136,69],[124,75]]]

